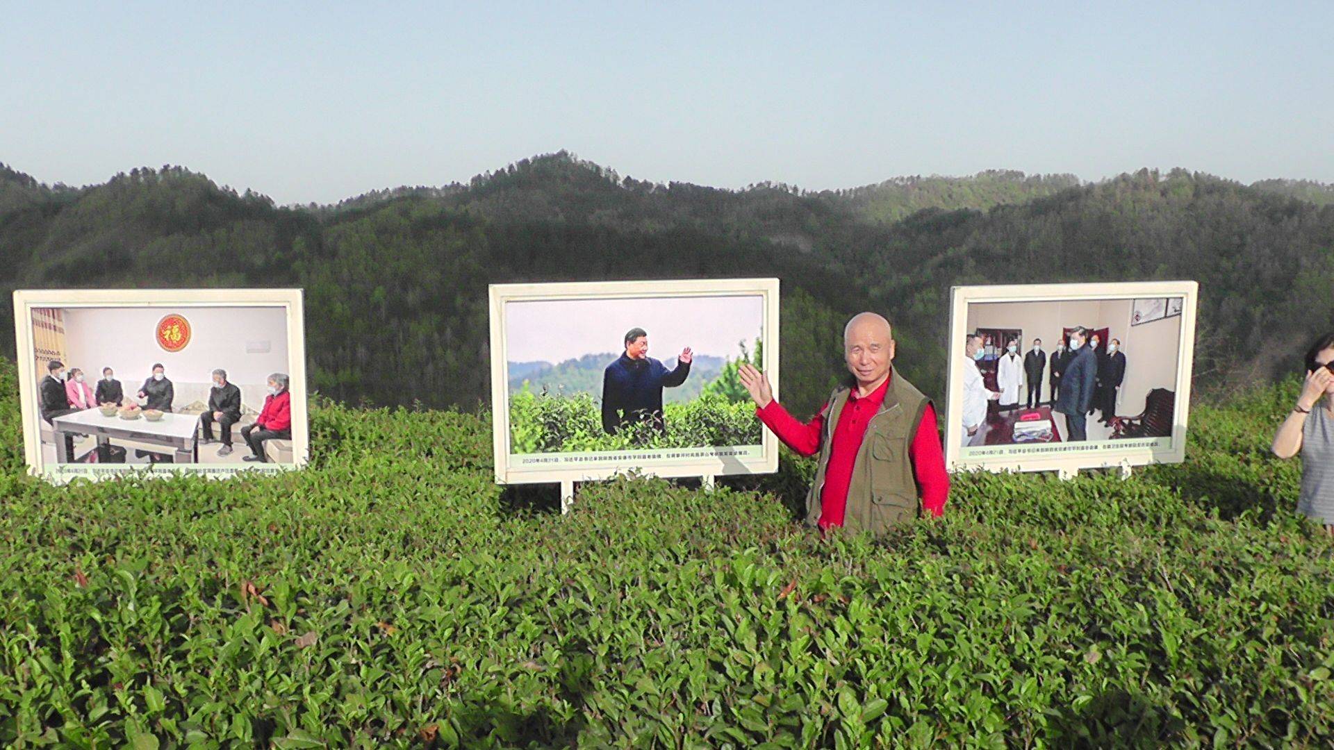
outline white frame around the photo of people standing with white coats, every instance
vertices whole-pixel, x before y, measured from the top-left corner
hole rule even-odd
[[[1126,283],[1079,283],[1079,284],[1013,284],[1013,286],[960,286],[950,290],[950,358],[948,383],[946,391],[944,458],[950,471],[1057,471],[1062,476],[1073,476],[1081,468],[1114,468],[1129,472],[1133,466],[1151,463],[1179,463],[1186,455],[1186,426],[1190,414],[1190,380],[1194,355],[1195,312],[1199,286],[1197,282],[1126,282]],[[1145,438],[1126,440],[1094,440],[1087,443],[1043,443],[1043,444],[1003,444],[972,446],[964,448],[962,440],[964,382],[964,335],[968,334],[968,306],[984,303],[1047,303],[1047,302],[1107,302],[1130,300],[1130,314],[1121,336],[1131,330],[1135,303],[1142,299],[1179,298],[1181,315],[1170,316],[1179,320],[1175,376],[1173,378],[1175,408],[1170,438]],[[1165,304],[1155,308],[1166,310]],[[1055,331],[1066,323],[1085,324],[1083,320],[1050,320],[1046,328],[1035,335]],[[1163,323],[1166,324],[1166,322]],[[1137,330],[1139,330],[1137,327]],[[1029,334],[1026,332],[1026,336]],[[1031,336],[1030,336],[1031,338]],[[1046,336],[1042,336],[1046,338]],[[1046,352],[1050,355],[1051,348]],[[1135,352],[1127,354],[1127,358]],[[1050,376],[1043,372],[1043,379]],[[1054,415],[1054,419],[1059,416]],[[1093,418],[1089,418],[1093,420]]]

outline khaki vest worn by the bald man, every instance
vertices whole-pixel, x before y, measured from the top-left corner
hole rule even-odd
[[[820,519],[820,490],[824,487],[824,470],[834,447],[834,428],[850,394],[851,388],[839,387],[830,395],[815,482],[806,495],[806,523],[810,526]],[[920,503],[908,448],[928,403],[931,400],[912,387],[912,383],[896,371],[892,374],[880,411],[866,426],[862,447],[852,463],[852,482],[843,511],[843,526],[847,530],[864,528],[878,535],[892,526],[916,519]]]

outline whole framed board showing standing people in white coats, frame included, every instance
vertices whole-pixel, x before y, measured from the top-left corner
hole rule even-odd
[[[954,287],[946,463],[1073,471],[1181,462],[1197,294],[1195,282]],[[998,330],[1023,331],[1019,351],[1003,355],[1014,358],[1003,394],[984,355]]]

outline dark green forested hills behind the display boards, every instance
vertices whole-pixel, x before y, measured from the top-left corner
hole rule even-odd
[[[1327,194],[1186,171],[730,191],[560,152],[468,184],[284,208],[180,167],[81,188],[0,167],[0,284],[300,286],[315,388],[471,407],[490,392],[488,283],[774,275],[784,400],[810,410],[839,376],[851,312],[884,312],[899,366],[940,396],[951,284],[1195,279],[1199,384],[1226,387],[1293,368],[1331,327]]]

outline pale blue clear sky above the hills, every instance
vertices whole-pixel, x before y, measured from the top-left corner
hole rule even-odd
[[[734,188],[1334,181],[1326,1],[185,5],[9,4],[0,161],[69,184],[183,164],[279,203],[560,148]]]

